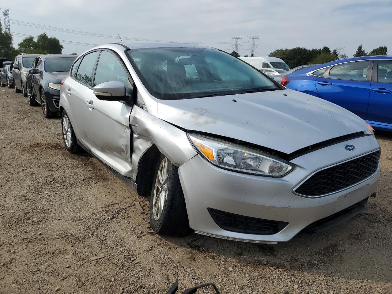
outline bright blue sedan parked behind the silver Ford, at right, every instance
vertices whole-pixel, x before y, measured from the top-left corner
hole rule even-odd
[[[392,131],[392,56],[364,56],[316,65],[282,77],[289,89],[352,111],[374,129]]]

